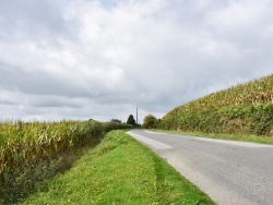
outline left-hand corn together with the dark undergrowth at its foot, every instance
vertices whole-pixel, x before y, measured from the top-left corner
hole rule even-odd
[[[36,184],[71,166],[71,153],[96,145],[120,123],[90,121],[0,124],[0,204],[27,196]]]

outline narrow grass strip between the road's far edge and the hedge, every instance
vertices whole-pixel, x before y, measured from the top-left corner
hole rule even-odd
[[[181,135],[191,135],[191,136],[200,136],[200,137],[207,137],[207,138],[240,141],[240,142],[251,142],[251,143],[273,145],[273,137],[270,137],[270,136],[183,132],[183,131],[157,130],[157,129],[151,129],[151,130],[154,132],[164,132],[164,133],[170,133],[170,134],[181,134]]]

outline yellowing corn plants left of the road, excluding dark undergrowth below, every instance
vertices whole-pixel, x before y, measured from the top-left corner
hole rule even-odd
[[[123,128],[128,129],[129,125],[96,121],[0,123],[0,185],[5,170],[13,170],[25,162],[35,164],[43,158],[54,158],[60,153],[92,144],[109,130]]]

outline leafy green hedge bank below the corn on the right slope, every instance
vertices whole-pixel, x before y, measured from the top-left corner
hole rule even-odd
[[[161,129],[273,136],[273,104],[240,105],[175,114]]]

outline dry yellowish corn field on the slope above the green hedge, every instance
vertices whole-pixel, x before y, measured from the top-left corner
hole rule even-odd
[[[194,113],[218,107],[262,105],[266,102],[273,104],[273,74],[190,101],[168,112],[163,120],[177,114]]]

